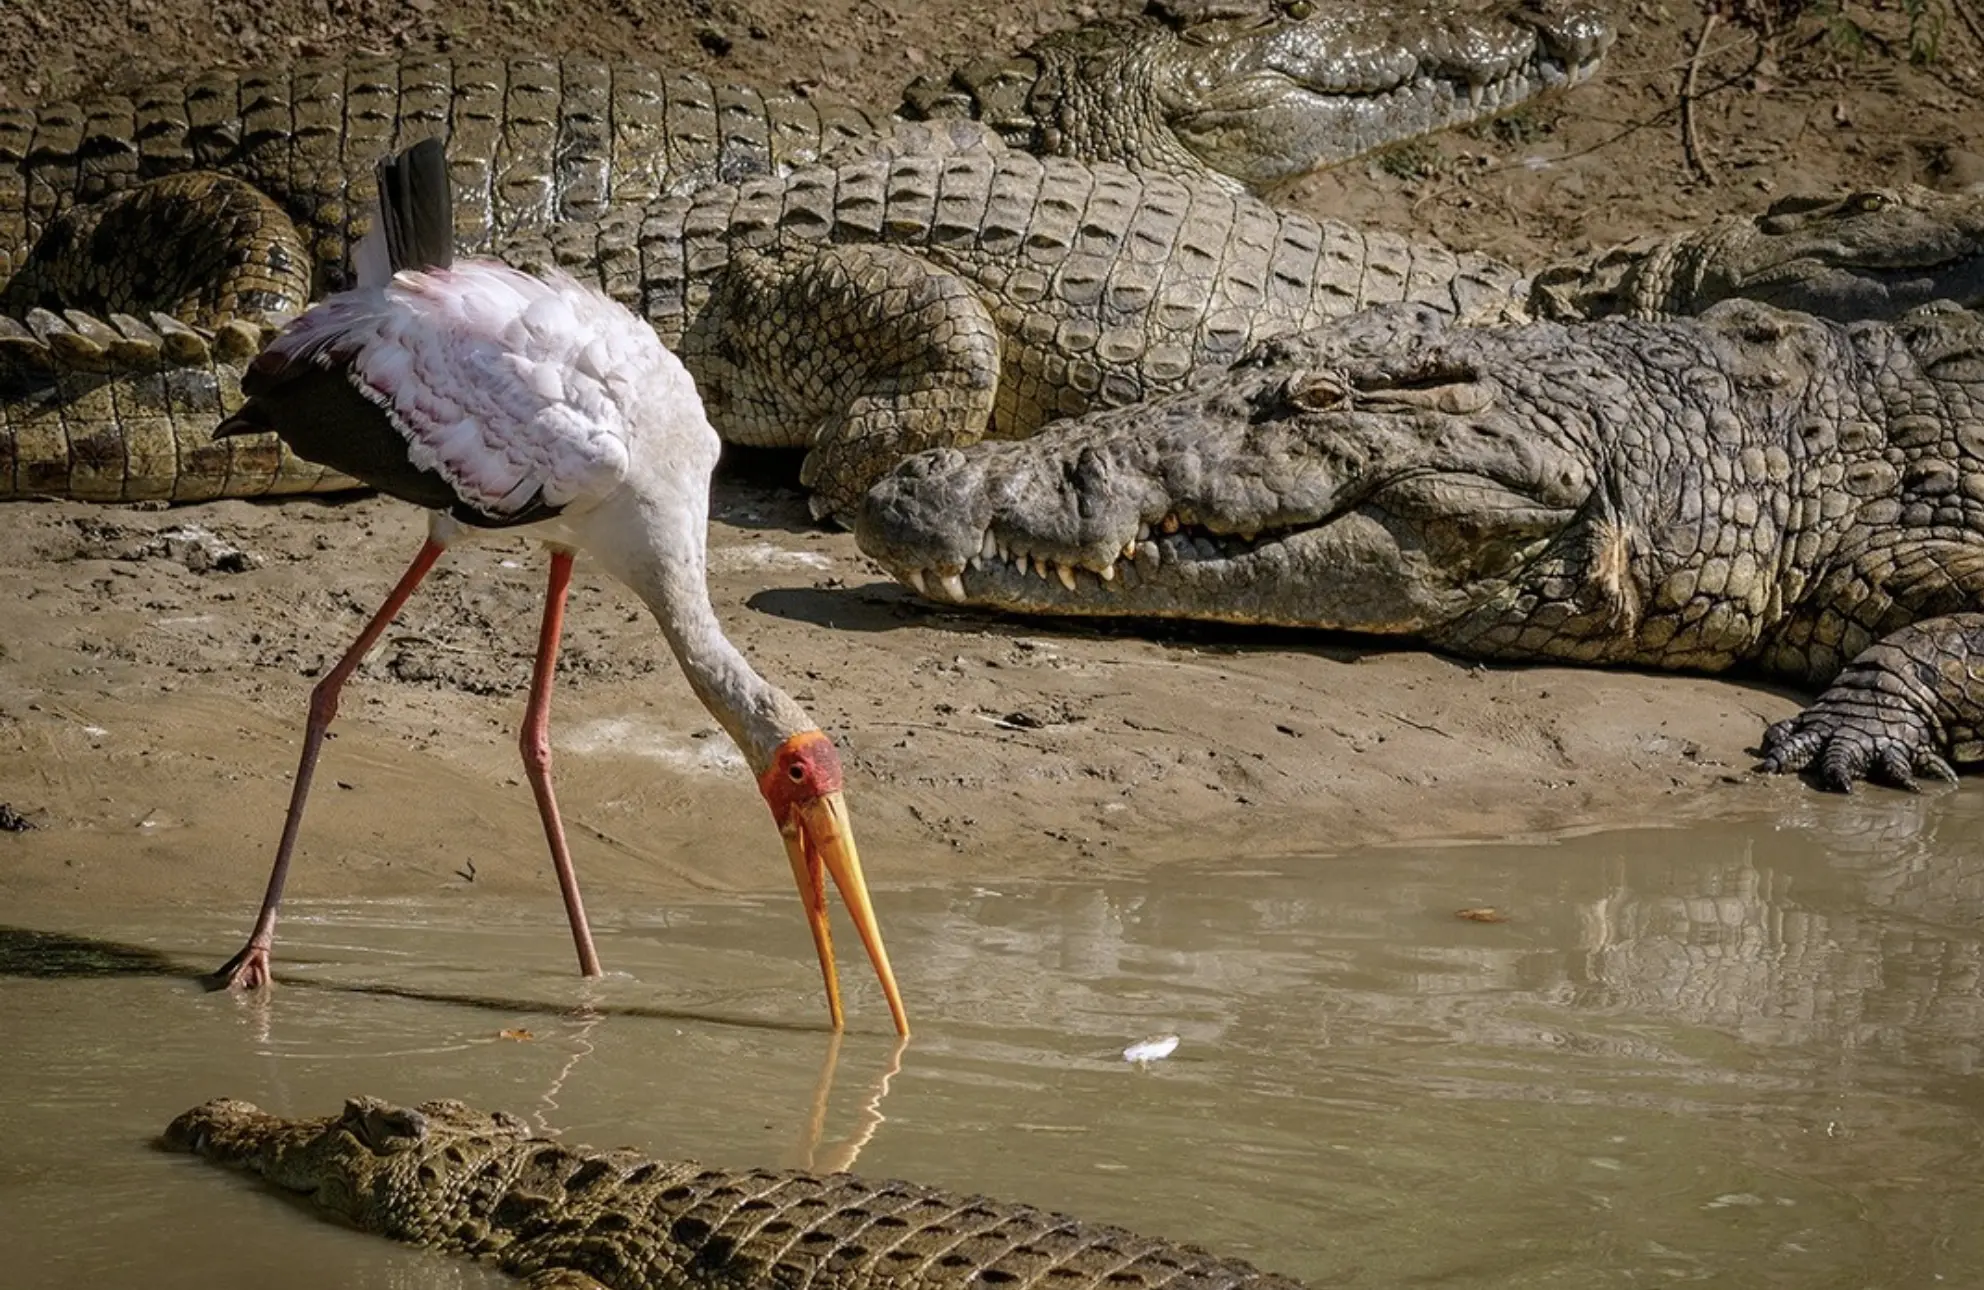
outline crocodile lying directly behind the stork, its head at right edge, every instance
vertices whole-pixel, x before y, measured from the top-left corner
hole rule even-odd
[[[1254,339],[1391,300],[1470,320],[1690,312],[1732,292],[1841,316],[1984,300],[1984,196],[1792,198],[1532,284],[1484,256],[1204,183],[990,143],[946,153],[952,135],[899,143],[929,151],[712,187],[504,250],[643,308],[682,347],[726,439],[819,443],[809,478],[843,514],[919,447],[1178,389]],[[155,339],[71,331],[52,316],[36,333],[0,318],[0,496],[190,500],[341,482],[274,447],[206,443],[232,411],[236,367],[161,363]]]

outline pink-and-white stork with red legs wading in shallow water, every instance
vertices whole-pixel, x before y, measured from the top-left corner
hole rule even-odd
[[[653,327],[567,276],[452,262],[440,145],[381,163],[381,218],[359,286],[298,318],[242,379],[216,435],[276,431],[298,454],[434,510],[429,540],[345,657],[317,683],[262,913],[220,984],[262,986],[276,909],[337,695],[442,550],[474,528],[550,544],[524,768],[565,897],[579,967],[599,972],[552,792],[550,693],[573,552],[655,613],[690,689],[736,740],[772,808],[841,1024],[825,875],[839,885],[899,1032],[895,972],[869,905],[833,742],[724,637],[708,599],[706,536],[718,439],[694,381]]]

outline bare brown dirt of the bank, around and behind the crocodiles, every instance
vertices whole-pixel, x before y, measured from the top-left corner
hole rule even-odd
[[[1911,0],[1917,44],[1938,36],[1922,62],[1901,4],[1788,18],[1768,48],[1718,20],[1694,75],[1714,183],[1690,173],[1676,109],[1700,12],[1643,2],[1617,6],[1619,46],[1591,85],[1313,177],[1288,200],[1536,262],[1794,191],[1974,183],[1984,40],[1970,4]],[[10,0],[0,103],[214,60],[444,44],[625,54],[881,105],[921,71],[1097,12]],[[811,526],[776,474],[728,472],[716,500],[718,611],[841,742],[881,887],[1649,824],[1813,792],[1748,772],[1764,722],[1796,709],[1770,687],[1472,667],[1294,633],[1002,621],[917,601],[845,534]],[[0,834],[0,907],[183,899],[246,915],[311,677],[421,526],[381,500],[0,506],[0,802],[36,826]],[[391,631],[345,701],[296,893],[548,891],[514,750],[542,570],[514,542],[462,550]],[[583,566],[573,599],[554,734],[595,911],[784,885],[754,790],[653,623]]]

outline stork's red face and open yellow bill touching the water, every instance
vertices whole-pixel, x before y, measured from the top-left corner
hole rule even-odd
[[[813,931],[813,949],[819,951],[819,974],[827,980],[827,1010],[833,1014],[833,1028],[841,1028],[841,986],[833,968],[833,935],[827,931],[827,873],[847,901],[847,915],[861,933],[875,976],[881,978],[881,992],[889,998],[889,1014],[895,1018],[897,1034],[909,1034],[909,1018],[903,1012],[903,996],[895,986],[895,968],[889,967],[889,951],[881,943],[881,927],[875,923],[875,907],[869,903],[867,879],[861,877],[861,853],[855,849],[855,830],[847,822],[847,804],[841,800],[841,754],[819,730],[794,734],[772,754],[772,764],[758,776],[758,792],[772,808],[772,820],[786,839],[786,857],[792,861],[792,877],[800,885],[800,903],[806,905],[806,923]]]

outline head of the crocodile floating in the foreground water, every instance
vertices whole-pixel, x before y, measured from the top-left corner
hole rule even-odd
[[[401,1107],[353,1097],[337,1115],[284,1119],[220,1097],[167,1125],[163,1145],[258,1173],[355,1226],[417,1234],[423,1223],[448,1221],[440,1213],[448,1179],[524,1137],[522,1119],[460,1101]]]

